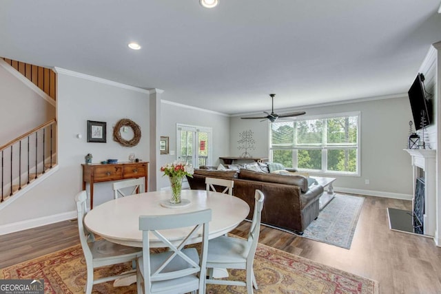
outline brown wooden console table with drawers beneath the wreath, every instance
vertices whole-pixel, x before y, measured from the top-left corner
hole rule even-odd
[[[94,206],[94,183],[110,182],[112,180],[126,180],[129,178],[145,179],[145,191],[147,192],[147,167],[149,162],[121,162],[115,164],[92,165],[82,164],[83,166],[83,190],[85,184],[90,184],[90,209]]]

